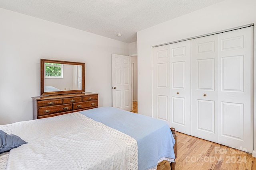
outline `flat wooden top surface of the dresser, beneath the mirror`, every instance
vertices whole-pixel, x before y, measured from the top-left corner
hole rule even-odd
[[[89,96],[89,95],[96,95],[98,93],[75,93],[75,94],[61,94],[61,95],[51,95],[51,96],[37,96],[32,97],[34,100],[48,100],[48,99],[59,99],[59,98],[72,98],[72,97],[80,97],[80,96]]]

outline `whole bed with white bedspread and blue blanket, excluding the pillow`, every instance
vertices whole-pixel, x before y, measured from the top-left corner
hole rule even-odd
[[[165,121],[113,107],[0,125],[28,142],[0,154],[6,169],[175,168],[173,132]],[[174,133],[174,135],[172,134]]]

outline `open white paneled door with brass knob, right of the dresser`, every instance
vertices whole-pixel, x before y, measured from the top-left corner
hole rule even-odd
[[[112,106],[132,111],[131,57],[112,54]]]

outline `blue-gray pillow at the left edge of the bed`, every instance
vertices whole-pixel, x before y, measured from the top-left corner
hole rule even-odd
[[[17,135],[8,135],[4,131],[0,130],[0,153],[17,148],[25,143],[27,142],[23,141]]]

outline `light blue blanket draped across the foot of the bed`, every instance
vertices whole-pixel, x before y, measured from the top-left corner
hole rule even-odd
[[[165,121],[114,107],[98,107],[79,112],[133,137],[138,143],[139,170],[157,166],[162,157],[175,158],[175,140]]]

